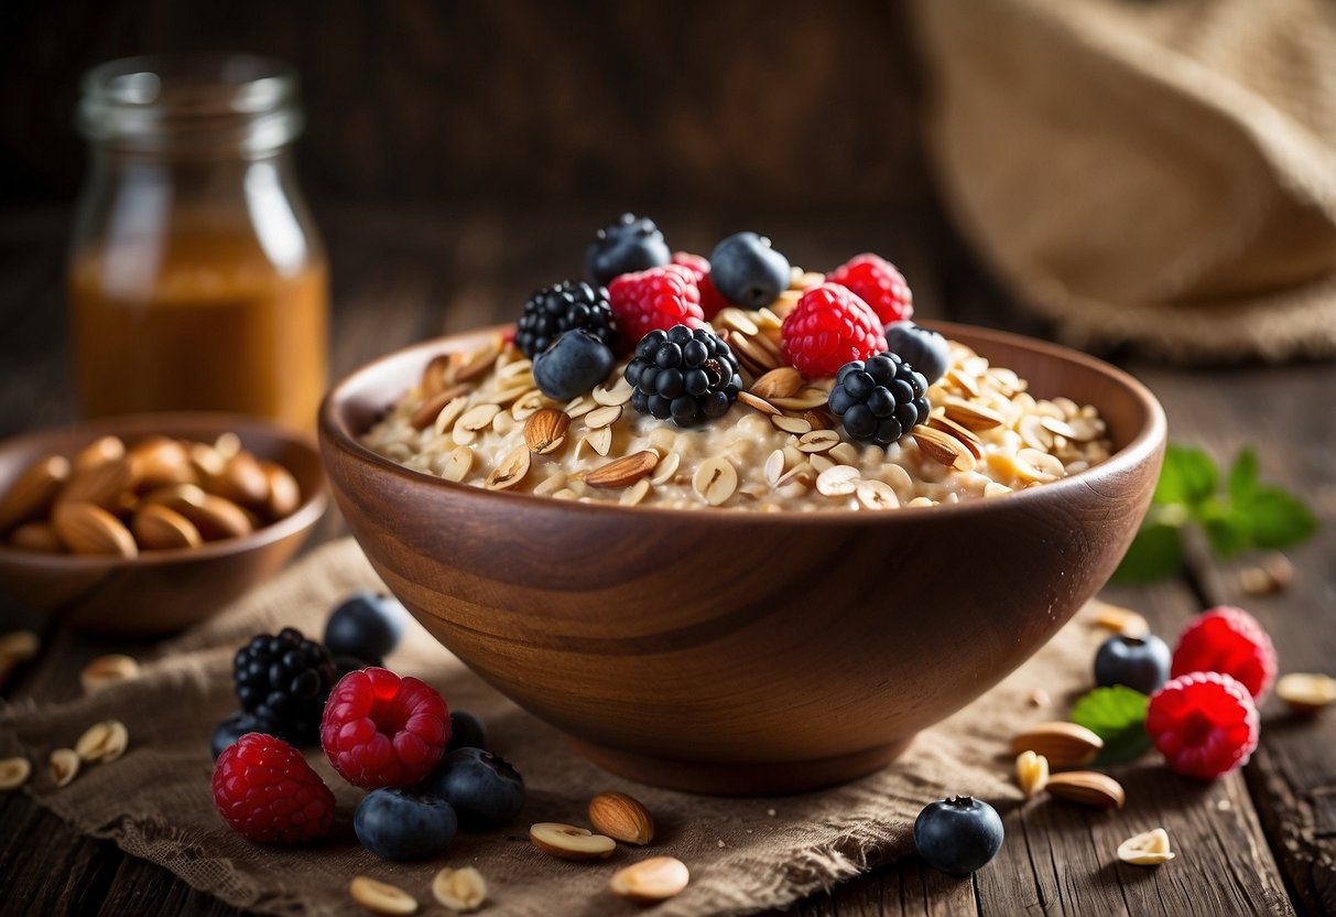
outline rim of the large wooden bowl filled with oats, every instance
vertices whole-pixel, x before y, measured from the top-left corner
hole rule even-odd
[[[405,465],[398,464],[393,458],[387,458],[370,448],[362,445],[357,440],[346,422],[339,408],[350,401],[350,396],[354,389],[358,388],[359,382],[363,382],[366,377],[382,370],[390,364],[409,361],[410,358],[417,358],[418,356],[425,356],[426,360],[437,356],[441,349],[450,342],[462,341],[468,338],[484,338],[489,334],[505,334],[514,328],[513,323],[489,325],[469,332],[460,332],[456,334],[446,334],[426,341],[418,341],[417,344],[410,344],[398,350],[393,350],[382,357],[378,357],[362,366],[358,366],[351,373],[341,378],[334,384],[321,401],[319,406],[319,424],[318,434],[323,446],[329,445],[337,448],[346,453],[351,458],[367,464],[373,468],[386,471],[393,477],[405,481],[410,487],[434,487],[440,488],[446,493],[458,493],[461,496],[480,497],[480,499],[501,499],[508,501],[522,501],[533,507],[544,507],[546,509],[553,509],[560,507],[562,511],[569,511],[574,513],[619,513],[629,516],[648,516],[660,517],[669,516],[680,519],[683,512],[689,512],[695,517],[708,519],[711,523],[719,523],[724,525],[739,525],[739,524],[755,524],[762,519],[767,520],[782,520],[784,523],[799,523],[802,525],[812,527],[830,527],[830,525],[886,525],[895,524],[892,520],[914,520],[922,519],[923,513],[931,513],[933,517],[941,517],[943,513],[953,516],[970,516],[981,512],[995,512],[995,508],[1001,504],[1017,507],[1017,501],[1033,503],[1035,500],[1054,500],[1061,499],[1062,495],[1070,493],[1075,488],[1096,487],[1097,481],[1105,480],[1112,476],[1118,476],[1120,473],[1130,473],[1132,469],[1145,463],[1157,449],[1162,448],[1168,434],[1168,424],[1165,420],[1164,408],[1160,401],[1152,394],[1150,389],[1142,385],[1130,373],[1126,373],[1117,366],[1100,360],[1098,357],[1092,357],[1090,354],[1066,348],[1061,344],[1053,344],[1050,341],[1043,341],[1039,338],[1029,337],[1025,334],[1015,334],[1013,332],[1002,332],[991,328],[981,328],[977,325],[965,325],[961,322],[943,322],[943,321],[925,321],[921,322],[923,328],[941,332],[947,337],[953,334],[963,334],[965,337],[975,340],[994,341],[999,345],[1009,345],[1014,348],[1021,348],[1026,350],[1033,350],[1041,356],[1051,360],[1058,360],[1062,362],[1082,365],[1101,376],[1112,378],[1120,386],[1125,388],[1132,393],[1132,396],[1141,404],[1146,413],[1148,422],[1137,430],[1133,437],[1121,449],[1109,456],[1108,460],[1102,461],[1093,468],[1077,472],[1070,477],[1061,479],[1058,481],[1049,481],[1041,487],[1025,488],[1023,491],[1015,491],[1013,493],[1003,495],[1002,497],[994,497],[991,500],[966,500],[955,504],[937,504],[931,507],[899,507],[895,512],[843,512],[838,509],[818,511],[818,512],[804,512],[800,509],[779,509],[771,512],[758,512],[758,511],[737,511],[727,509],[721,507],[699,507],[689,511],[675,509],[671,507],[645,507],[633,505],[624,507],[612,500],[581,503],[578,500],[552,500],[550,497],[540,497],[532,493],[510,493],[508,491],[488,491],[484,488],[473,487],[472,484],[461,484],[456,481],[448,481],[436,475],[429,475],[426,472],[414,471]],[[424,365],[426,364],[424,360]],[[365,430],[363,430],[365,432]],[[326,475],[329,476],[329,461],[326,460]],[[1021,504],[1021,505],[1027,505]],[[994,509],[990,509],[994,508]],[[700,516],[704,513],[704,516]]]

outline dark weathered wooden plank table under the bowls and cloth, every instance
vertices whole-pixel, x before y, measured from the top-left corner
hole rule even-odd
[[[584,241],[605,214],[321,214],[334,266],[333,372],[397,346],[517,314],[528,293],[578,271]],[[736,226],[660,214],[695,250]],[[935,206],[900,214],[754,219],[796,263],[827,266],[854,251],[892,257],[923,317],[1043,333],[965,253]],[[67,217],[0,217],[0,436],[75,416],[64,352],[61,287]],[[132,358],[127,354],[127,358]],[[1264,477],[1307,495],[1325,525],[1292,553],[1292,588],[1240,591],[1237,567],[1200,552],[1184,573],[1145,588],[1108,590],[1173,638],[1189,615],[1218,603],[1249,608],[1271,631],[1285,671],[1336,666],[1336,364],[1181,370],[1121,360],[1162,400],[1173,440],[1217,457],[1253,444]],[[339,531],[327,520],[321,536]],[[0,599],[0,632],[32,626]],[[59,632],[4,687],[9,699],[68,696],[75,672],[108,651]],[[130,648],[131,652],[135,648]],[[143,648],[139,650],[143,652]],[[879,869],[791,914],[1021,912],[1079,914],[1336,913],[1336,712],[1316,720],[1263,710],[1261,747],[1242,770],[1209,785],[1168,778],[1154,763],[1120,771],[1128,807],[1116,817],[1073,806],[1013,809],[998,858],[953,878],[916,858]],[[1114,862],[1126,835],[1156,825],[1180,850],[1144,870]],[[171,873],[81,837],[21,793],[0,797],[3,913],[235,913]]]

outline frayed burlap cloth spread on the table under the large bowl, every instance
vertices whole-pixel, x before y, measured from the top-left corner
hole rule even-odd
[[[351,540],[329,544],[211,623],[163,644],[143,663],[138,680],[68,703],[0,710],[0,754],[25,754],[37,762],[27,791],[79,830],[111,838],[192,886],[258,912],[362,913],[347,896],[349,881],[358,874],[401,885],[426,912],[438,910],[430,896],[434,873],[444,865],[473,865],[490,886],[488,913],[615,917],[643,909],[608,892],[612,872],[643,856],[667,853],[689,866],[692,882],[653,913],[740,914],[791,904],[910,853],[912,819],[931,799],[955,793],[999,806],[1019,799],[1006,737],[1018,725],[1062,715],[1066,694],[1089,680],[1100,640],[1078,615],[1005,683],[921,734],[904,758],[879,774],[820,793],[727,799],[656,790],[599,770],[413,624],[387,663],[426,678],[452,706],[485,718],[494,749],[518,767],[529,789],[516,823],[488,834],[461,833],[440,861],[378,860],[353,837],[351,813],[361,791],[314,750],[309,759],[338,797],[333,838],[307,849],[243,839],[214,811],[210,794],[208,739],[214,723],[236,706],[230,682],[235,648],[257,631],[285,624],[319,634],[337,599],[378,585]],[[1053,708],[1029,703],[1039,686],[1051,694]],[[43,773],[48,753],[72,746],[84,729],[106,718],[128,726],[126,755],[90,765],[73,783],[53,787]],[[532,822],[588,823],[587,802],[603,790],[632,793],[649,807],[660,826],[651,847],[623,847],[609,861],[569,864],[529,843]]]

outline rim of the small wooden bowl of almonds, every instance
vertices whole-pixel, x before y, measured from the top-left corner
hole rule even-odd
[[[171,410],[122,414],[116,417],[98,417],[94,420],[64,424],[61,426],[45,426],[41,429],[27,430],[5,437],[4,440],[0,440],[0,452],[9,452],[11,449],[21,448],[28,442],[51,436],[83,436],[86,433],[90,437],[115,434],[122,436],[123,438],[140,436],[172,436],[172,429],[196,426],[216,426],[218,433],[236,433],[243,442],[246,440],[247,429],[259,429],[295,445],[299,449],[306,449],[321,467],[321,476],[317,480],[315,489],[310,493],[303,493],[301,505],[298,505],[291,515],[285,516],[277,523],[270,523],[263,528],[258,528],[250,535],[232,539],[219,539],[218,541],[207,541],[195,548],[144,551],[134,557],[122,557],[118,555],[43,553],[40,551],[24,551],[21,548],[13,548],[8,544],[0,543],[0,563],[11,565],[21,564],[32,569],[55,572],[84,572],[114,567],[134,567],[143,569],[152,567],[175,567],[179,564],[227,557],[263,548],[310,528],[321,519],[321,516],[325,515],[325,511],[329,507],[329,477],[323,472],[323,463],[319,461],[319,446],[311,434],[286,424],[267,420],[265,417],[254,417],[251,414],[210,410]]]

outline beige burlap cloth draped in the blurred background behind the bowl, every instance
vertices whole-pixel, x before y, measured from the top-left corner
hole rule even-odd
[[[1062,337],[1336,353],[1336,5],[912,8],[949,206]]]

